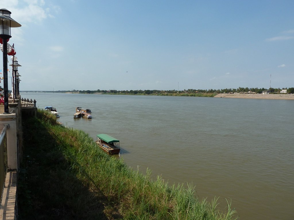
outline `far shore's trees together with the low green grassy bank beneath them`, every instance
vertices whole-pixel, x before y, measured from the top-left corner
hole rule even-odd
[[[287,88],[283,88],[287,89]],[[272,94],[280,94],[280,88],[243,88],[238,89],[184,89],[184,90],[62,90],[62,91],[25,91],[25,92],[53,92],[53,93],[79,93],[79,94],[112,94],[112,95],[159,95],[159,96],[198,96],[214,97],[220,93],[256,93],[269,91]],[[288,88],[287,93],[294,93],[294,87]]]

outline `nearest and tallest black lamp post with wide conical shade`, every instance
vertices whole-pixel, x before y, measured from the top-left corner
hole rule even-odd
[[[3,80],[4,80],[4,113],[9,114],[8,109],[8,75],[7,75],[7,40],[11,38],[11,28],[21,27],[19,23],[10,17],[11,12],[0,9],[0,38],[3,40]]]

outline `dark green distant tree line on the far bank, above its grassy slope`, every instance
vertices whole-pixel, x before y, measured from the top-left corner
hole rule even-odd
[[[287,88],[282,88],[287,89]],[[64,90],[64,91],[54,91],[54,92],[74,92],[74,93],[83,93],[83,94],[94,94],[94,93],[103,93],[103,94],[129,94],[129,95],[166,95],[166,94],[201,94],[201,93],[210,93],[210,94],[218,94],[218,93],[230,93],[230,92],[255,92],[262,93],[263,91],[269,90],[270,93],[280,93],[282,90],[280,88],[243,88],[239,87],[237,89],[184,89],[184,90]],[[287,93],[294,93],[294,87],[288,88]]]

